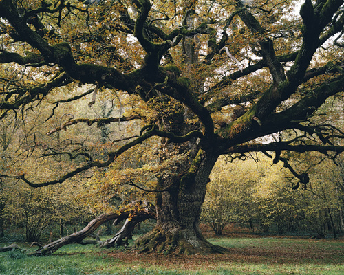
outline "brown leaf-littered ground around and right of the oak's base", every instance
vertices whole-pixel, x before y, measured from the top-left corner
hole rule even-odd
[[[338,239],[310,239],[304,236],[272,236],[268,234],[250,234],[250,232],[242,232],[242,230],[241,232],[235,232],[230,227],[224,230],[222,236],[215,236],[210,228],[203,227],[202,231],[206,239],[211,243],[228,250],[222,254],[189,256],[179,254],[136,254],[131,252],[108,252],[108,255],[114,259],[120,259],[123,263],[133,265],[135,263],[144,263],[147,266],[162,266],[170,270],[182,268],[193,272],[202,270],[204,267],[209,267],[208,269],[214,267],[215,270],[219,271],[219,274],[226,274],[222,273],[226,266],[236,265],[234,270],[237,270],[238,273],[228,274],[241,274],[240,270],[243,272],[242,274],[246,274],[246,272],[251,274],[248,266],[256,265],[257,270],[252,274],[275,274],[273,269],[277,266],[280,268],[278,268],[279,271],[276,271],[276,274],[308,274],[308,272],[309,274],[337,274],[335,270],[330,268],[331,272],[333,272],[331,273],[328,269],[331,265],[337,265],[338,274],[344,274],[344,237]],[[269,265],[272,270],[268,267]],[[284,271],[283,265],[286,266]],[[299,271],[297,269],[293,271],[292,266],[296,267],[297,265],[303,267]],[[318,271],[312,270],[312,268],[308,270],[306,267],[314,267],[315,265],[320,267]],[[240,266],[243,268],[238,270]],[[234,270],[233,272],[235,272]]]

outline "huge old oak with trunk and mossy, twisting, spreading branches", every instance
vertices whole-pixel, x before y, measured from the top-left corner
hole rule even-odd
[[[48,151],[47,143],[45,155],[85,157],[54,179],[3,177],[33,187],[60,184],[151,140],[159,163],[175,160],[169,173],[155,177],[157,225],[138,248],[221,250],[198,228],[220,155],[265,152],[306,186],[308,175],[283,153],[316,151],[335,159],[344,151],[342,117],[323,108],[328,100],[335,106],[344,88],[343,0],[302,2],[298,14],[291,0],[1,0],[1,120],[44,106],[49,121],[67,102],[92,95],[92,105],[114,91],[140,104],[118,117],[69,117],[47,134],[80,123],[145,125],[109,146],[103,158],[73,142],[63,152]],[[76,93],[76,84],[92,88]],[[67,96],[52,100],[62,90]]]

